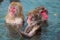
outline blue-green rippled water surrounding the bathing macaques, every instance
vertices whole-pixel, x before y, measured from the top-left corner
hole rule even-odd
[[[5,16],[7,14],[7,9],[10,0],[4,0],[0,4],[0,40],[22,40],[21,37],[11,38],[8,35],[8,29],[4,24]],[[48,24],[49,26],[43,28],[41,36],[38,36],[36,40],[58,40],[60,38],[60,0],[20,0],[23,6],[23,13],[25,18],[27,18],[27,13],[30,10],[38,6],[44,6],[48,10]],[[55,14],[57,16],[55,16]],[[24,39],[28,40],[28,39]],[[30,39],[33,40],[33,39]]]

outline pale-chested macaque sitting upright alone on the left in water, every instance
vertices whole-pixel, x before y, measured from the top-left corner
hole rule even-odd
[[[24,24],[24,15],[22,13],[22,5],[19,2],[12,2],[8,7],[8,14],[5,22],[12,30],[20,29]],[[9,29],[10,29],[9,27]],[[10,30],[11,30],[10,29]]]

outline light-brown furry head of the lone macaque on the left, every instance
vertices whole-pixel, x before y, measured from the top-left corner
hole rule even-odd
[[[22,6],[21,6],[21,4],[18,3],[18,2],[12,2],[9,5],[8,13],[10,13],[11,15],[18,15],[18,14],[22,13]]]

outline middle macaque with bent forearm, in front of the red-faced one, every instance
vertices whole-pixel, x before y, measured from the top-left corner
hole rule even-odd
[[[37,30],[41,29],[40,27],[41,17],[38,20],[37,11],[32,10],[28,13],[27,23],[28,26],[25,28],[25,31],[24,32],[20,31],[20,33],[23,36],[30,38],[37,33]]]

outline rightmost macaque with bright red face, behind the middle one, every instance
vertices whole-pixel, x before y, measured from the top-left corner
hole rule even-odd
[[[38,14],[42,16],[42,21],[46,22],[48,20],[48,11],[45,7],[40,6],[35,8],[36,11],[38,11]]]

